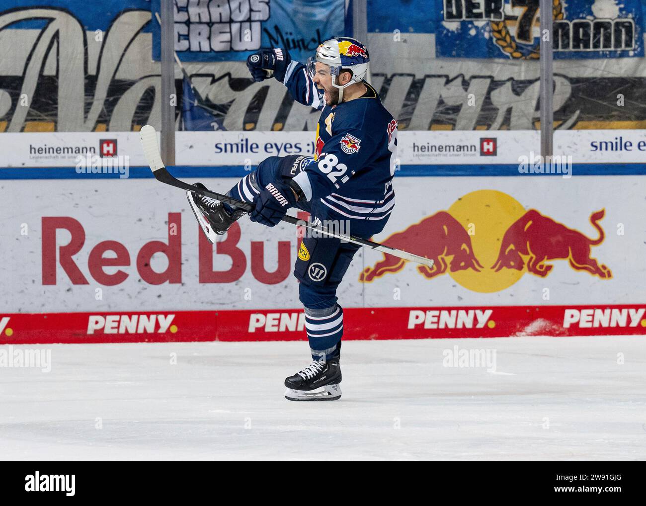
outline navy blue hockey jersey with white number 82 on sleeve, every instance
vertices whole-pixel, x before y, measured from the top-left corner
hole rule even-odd
[[[283,83],[295,100],[321,111],[315,161],[304,171],[308,200],[320,200],[331,219],[370,220],[375,227],[367,228],[382,229],[395,206],[397,121],[366,81],[364,96],[335,106],[325,104],[302,63],[289,64]]]

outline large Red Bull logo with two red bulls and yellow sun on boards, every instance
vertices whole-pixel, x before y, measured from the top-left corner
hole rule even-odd
[[[433,258],[433,268],[417,266],[424,278],[448,274],[464,288],[480,293],[505,290],[525,273],[546,277],[556,260],[567,260],[576,271],[610,279],[610,269],[592,257],[592,247],[605,238],[599,225],[604,216],[603,209],[590,215],[598,237],[589,238],[536,209],[525,211],[506,193],[479,190],[462,196],[446,211],[394,233],[384,244]],[[364,269],[359,280],[371,282],[401,271],[405,264],[406,260],[384,254]]]

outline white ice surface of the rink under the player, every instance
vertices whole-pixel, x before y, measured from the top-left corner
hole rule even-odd
[[[0,459],[644,459],[645,339],[347,341],[310,403],[282,396],[303,342],[46,345],[51,372],[0,368]]]

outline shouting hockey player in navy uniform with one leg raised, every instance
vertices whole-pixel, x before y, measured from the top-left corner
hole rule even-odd
[[[255,81],[271,75],[295,100],[321,111],[313,157],[271,156],[227,193],[253,204],[251,221],[273,227],[290,207],[297,207],[310,213],[313,224],[344,221],[357,237],[382,231],[395,206],[397,122],[364,80],[369,61],[366,47],[349,37],[325,41],[307,65],[292,61],[281,48],[249,56],[247,67]],[[187,194],[211,242],[245,214],[219,200]],[[341,397],[343,309],[336,293],[357,249],[337,238],[303,238],[294,275],[300,281],[313,361],[285,380],[289,400]]]

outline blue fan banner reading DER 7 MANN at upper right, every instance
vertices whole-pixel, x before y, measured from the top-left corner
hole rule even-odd
[[[539,0],[436,0],[438,58],[538,59],[643,56],[640,0],[553,0],[554,29],[541,35]]]

